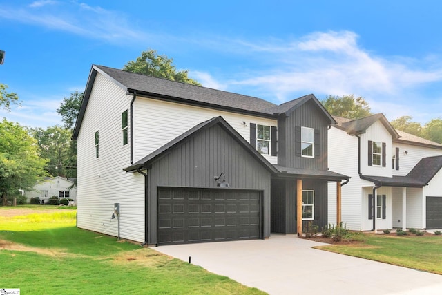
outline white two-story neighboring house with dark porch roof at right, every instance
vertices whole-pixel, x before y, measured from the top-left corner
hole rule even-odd
[[[342,187],[347,228],[442,228],[442,145],[396,131],[382,114],[335,120],[329,168],[351,177]],[[329,189],[329,222],[336,220],[334,194]]]

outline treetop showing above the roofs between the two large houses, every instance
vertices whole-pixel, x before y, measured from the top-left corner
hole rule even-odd
[[[354,98],[354,95],[343,95],[341,97],[329,95],[321,100],[321,104],[331,115],[347,119],[359,119],[372,115],[370,107],[363,97]]]

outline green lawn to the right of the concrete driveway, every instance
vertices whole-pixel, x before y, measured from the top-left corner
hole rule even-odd
[[[441,236],[365,236],[363,243],[318,249],[442,274]]]

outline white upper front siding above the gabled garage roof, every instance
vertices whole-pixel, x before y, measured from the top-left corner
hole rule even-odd
[[[190,106],[137,96],[134,103],[134,162],[144,158],[178,135],[213,117],[222,116],[247,142],[250,142],[250,123],[277,126],[277,120],[265,117],[230,113],[212,108]],[[246,122],[244,125],[242,122]],[[277,157],[263,155],[271,164]]]

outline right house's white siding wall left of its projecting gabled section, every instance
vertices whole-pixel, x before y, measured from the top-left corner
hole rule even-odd
[[[341,191],[341,218],[348,229],[361,230],[361,186],[358,175],[358,138],[332,126],[328,131],[329,169],[350,176]],[[328,184],[328,222],[336,225],[336,182]]]

